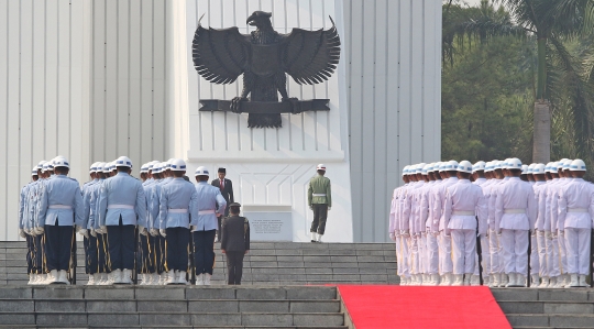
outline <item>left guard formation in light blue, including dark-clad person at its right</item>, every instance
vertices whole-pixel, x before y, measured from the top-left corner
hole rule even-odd
[[[81,188],[67,176],[69,168],[64,156],[42,161],[21,190],[19,233],[29,248],[29,284],[69,284],[76,233],[84,237],[88,285],[132,284],[134,273],[141,285],[188,284],[193,272],[197,285],[210,284],[227,201],[222,187],[208,184],[206,167],[196,169],[195,185],[183,160],[153,161],[141,167],[141,182],[131,176],[130,158],[120,156],[94,163]],[[241,283],[250,250],[250,224],[240,207],[231,204],[220,232],[229,284]]]

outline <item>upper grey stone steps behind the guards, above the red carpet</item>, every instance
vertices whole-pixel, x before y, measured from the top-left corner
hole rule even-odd
[[[252,242],[242,285],[396,284],[393,243]],[[226,284],[226,256],[215,244],[213,285]],[[87,283],[82,243],[77,248],[77,284]],[[0,286],[25,285],[26,244],[0,242]]]

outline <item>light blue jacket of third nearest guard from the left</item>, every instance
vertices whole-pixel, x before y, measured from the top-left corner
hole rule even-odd
[[[198,193],[194,184],[174,178],[161,187],[158,228],[189,229],[190,216],[198,217]],[[183,211],[186,212],[183,212]]]

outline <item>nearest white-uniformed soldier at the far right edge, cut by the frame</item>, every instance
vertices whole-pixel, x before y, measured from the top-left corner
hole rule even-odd
[[[559,230],[564,231],[566,272],[571,287],[585,287],[590,272],[590,237],[594,218],[594,185],[585,182],[585,163],[574,160],[570,165],[573,176],[559,195]]]

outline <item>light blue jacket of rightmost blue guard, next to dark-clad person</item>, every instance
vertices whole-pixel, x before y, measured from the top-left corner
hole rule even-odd
[[[221,190],[207,182],[200,182],[196,186],[198,193],[198,216],[191,218],[195,231],[210,231],[219,228],[217,221],[217,205],[219,213],[224,215],[227,201],[221,195]]]

